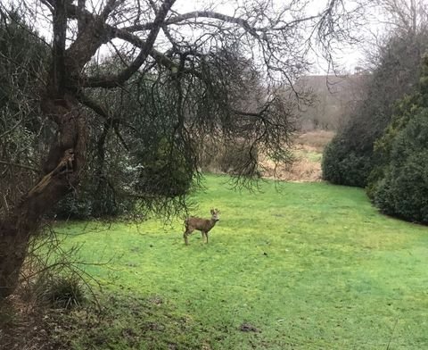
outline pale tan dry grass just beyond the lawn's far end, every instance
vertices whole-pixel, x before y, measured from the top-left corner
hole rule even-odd
[[[325,145],[333,138],[333,131],[309,131],[296,137],[296,157],[292,166],[279,165],[267,159],[261,160],[265,170],[263,177],[294,182],[315,182],[322,179],[321,158]]]

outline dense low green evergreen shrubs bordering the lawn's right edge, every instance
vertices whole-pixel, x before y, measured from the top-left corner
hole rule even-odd
[[[371,151],[359,148],[358,154],[350,146],[355,142],[340,133],[325,148],[323,176],[366,187],[381,212],[428,224],[428,54],[421,67],[416,91],[398,100],[383,134],[368,145]]]

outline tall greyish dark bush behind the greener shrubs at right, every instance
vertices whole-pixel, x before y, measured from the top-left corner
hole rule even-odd
[[[366,187],[368,176],[384,160],[374,153],[374,145],[391,125],[395,101],[412,94],[419,81],[421,52],[428,47],[428,36],[397,32],[378,50],[366,96],[326,147],[323,178],[335,184]],[[373,179],[370,179],[373,181]]]

